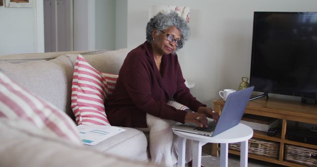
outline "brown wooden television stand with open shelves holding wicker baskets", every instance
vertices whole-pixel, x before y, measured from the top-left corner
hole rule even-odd
[[[224,106],[223,99],[214,100],[214,111],[221,114],[221,111]],[[278,131],[275,136],[268,136],[266,131],[254,130],[253,137],[256,139],[265,140],[270,143],[278,143],[278,151],[277,157],[267,157],[265,154],[269,154],[270,152],[258,152],[260,154],[250,153],[249,150],[249,158],[257,159],[261,161],[266,161],[274,164],[284,165],[288,167],[307,167],[306,165],[300,164],[300,157],[293,156],[293,160],[289,159],[288,155],[291,155],[291,149],[288,149],[288,146],[296,146],[298,148],[298,152],[300,155],[305,155],[308,149],[317,150],[316,144],[305,143],[304,141],[294,141],[290,140],[289,133],[293,129],[293,125],[291,122],[298,123],[308,123],[314,126],[317,125],[317,105],[306,105],[301,103],[300,101],[293,101],[287,99],[278,99],[270,97],[268,99],[260,98],[257,100],[250,101],[247,105],[245,114],[251,114],[256,116],[270,117],[279,119],[282,128]],[[293,127],[292,127],[293,126]],[[296,127],[296,124],[295,124]],[[259,144],[258,146],[260,146]],[[217,144],[211,145],[211,155],[218,156],[220,149]],[[261,149],[259,149],[261,150]],[[239,151],[235,151],[229,149],[229,153],[240,155]],[[262,154],[264,153],[264,154]],[[313,153],[313,152],[312,152]],[[313,154],[312,154],[313,155]],[[313,158],[312,158],[313,159]],[[300,162],[295,162],[294,160],[301,160]],[[316,167],[316,164],[315,166]]]

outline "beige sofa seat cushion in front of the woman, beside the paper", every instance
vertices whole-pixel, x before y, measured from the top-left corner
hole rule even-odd
[[[144,133],[135,128],[121,128],[126,130],[90,147],[120,157],[147,161],[149,154],[147,154],[147,138]]]

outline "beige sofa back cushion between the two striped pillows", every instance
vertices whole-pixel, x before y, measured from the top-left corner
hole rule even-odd
[[[0,71],[74,118],[70,108],[73,64],[67,56],[21,64],[0,63]]]

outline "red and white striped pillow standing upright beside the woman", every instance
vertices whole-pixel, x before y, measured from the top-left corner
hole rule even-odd
[[[112,94],[118,75],[101,73],[78,55],[72,83],[71,108],[78,125],[110,125],[105,99]]]

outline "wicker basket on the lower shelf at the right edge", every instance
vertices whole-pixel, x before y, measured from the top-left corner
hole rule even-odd
[[[317,167],[317,150],[286,144],[285,160],[310,167]]]

